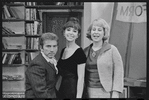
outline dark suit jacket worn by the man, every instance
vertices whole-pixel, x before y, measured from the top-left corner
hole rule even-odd
[[[56,70],[41,53],[30,62],[25,76],[26,98],[56,98]]]

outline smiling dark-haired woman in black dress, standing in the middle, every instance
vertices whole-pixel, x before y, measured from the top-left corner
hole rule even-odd
[[[66,47],[62,49],[57,65],[62,76],[59,98],[82,97],[86,56],[75,42],[80,33],[81,27],[77,18],[71,17],[63,26]]]

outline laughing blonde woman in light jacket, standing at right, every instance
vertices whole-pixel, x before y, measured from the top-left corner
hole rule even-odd
[[[88,28],[87,38],[93,43],[84,49],[85,92],[88,98],[119,98],[123,91],[123,62],[118,49],[109,44],[109,25],[95,19]]]

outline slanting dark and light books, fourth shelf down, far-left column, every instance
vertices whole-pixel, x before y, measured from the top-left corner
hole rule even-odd
[[[22,64],[21,53],[4,53],[2,64]]]

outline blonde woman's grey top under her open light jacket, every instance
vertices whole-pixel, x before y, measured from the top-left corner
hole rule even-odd
[[[96,52],[96,55],[93,57],[92,53]],[[100,50],[93,51],[90,48],[87,61],[86,61],[86,70],[85,70],[85,83],[87,87],[92,88],[101,88],[100,78],[97,70],[97,57],[100,53]]]

